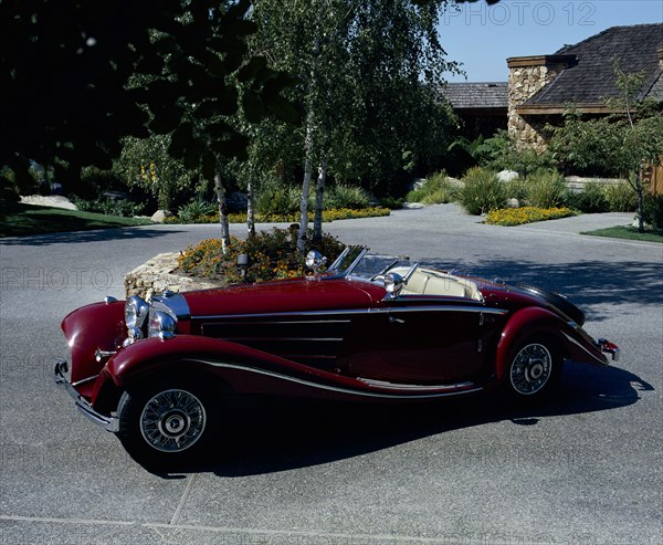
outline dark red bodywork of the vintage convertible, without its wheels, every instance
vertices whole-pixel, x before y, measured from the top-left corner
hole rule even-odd
[[[559,295],[425,269],[417,274],[461,293],[390,294],[383,276],[333,272],[165,293],[150,313],[172,315],[173,334],[130,343],[124,302],[88,305],[62,323],[71,364],[57,364],[56,381],[90,418],[118,431],[123,394],[164,377],[194,377],[220,397],[398,402],[496,388],[532,338],[546,339],[564,360],[608,365],[606,353],[619,354],[594,342],[578,323],[582,313]]]

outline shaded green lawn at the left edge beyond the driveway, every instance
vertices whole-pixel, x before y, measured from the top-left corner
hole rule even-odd
[[[11,205],[0,211],[0,217],[2,218],[0,237],[114,229],[151,223],[143,218],[120,218],[30,205]]]

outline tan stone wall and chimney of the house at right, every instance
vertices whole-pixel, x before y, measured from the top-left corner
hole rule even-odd
[[[550,83],[566,66],[566,62],[545,55],[508,60],[508,133],[515,137],[518,149],[546,149],[546,140],[541,136],[545,119],[523,117],[516,108]]]

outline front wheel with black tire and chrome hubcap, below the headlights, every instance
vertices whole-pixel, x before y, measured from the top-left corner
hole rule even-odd
[[[208,391],[190,381],[167,381],[125,391],[119,400],[118,436],[140,463],[175,468],[200,454],[212,434]]]

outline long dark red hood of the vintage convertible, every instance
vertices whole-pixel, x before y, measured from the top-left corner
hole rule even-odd
[[[192,318],[232,314],[270,314],[317,310],[367,308],[377,305],[385,290],[349,279],[304,279],[265,282],[182,293]]]

